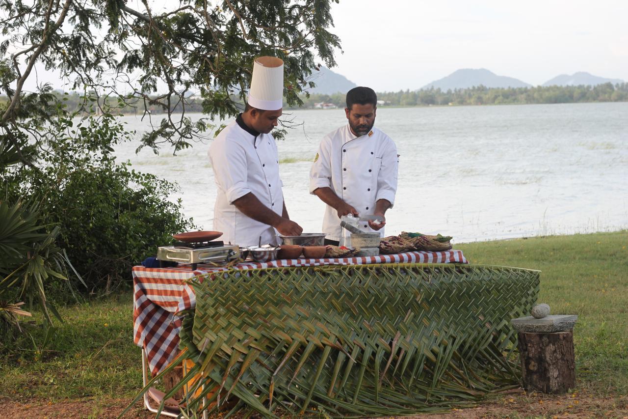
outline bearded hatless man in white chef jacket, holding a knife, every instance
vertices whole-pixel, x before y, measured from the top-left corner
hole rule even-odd
[[[348,124],[329,133],[318,147],[310,170],[310,193],[327,207],[326,244],[340,240],[340,216],[379,215],[384,221],[360,221],[364,232],[384,235],[385,214],[393,208],[399,156],[386,134],[374,128],[377,95],[369,87],[347,92]]]

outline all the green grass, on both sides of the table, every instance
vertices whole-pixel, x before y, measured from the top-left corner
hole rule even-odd
[[[552,313],[577,314],[578,387],[628,393],[628,232],[463,243],[474,264],[540,269]],[[131,291],[60,310],[64,323],[37,354],[25,339],[0,355],[0,399],[129,398],[141,388]],[[40,333],[36,330],[36,333]],[[40,359],[37,359],[40,358]]]

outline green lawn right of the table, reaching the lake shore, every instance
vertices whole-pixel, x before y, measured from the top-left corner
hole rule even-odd
[[[474,264],[539,269],[539,303],[578,315],[578,385],[628,393],[628,232],[549,236],[455,246]]]

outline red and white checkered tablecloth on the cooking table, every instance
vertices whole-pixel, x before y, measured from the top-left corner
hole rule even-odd
[[[343,259],[292,259],[272,262],[244,262],[233,267],[199,264],[170,268],[133,267],[133,338],[146,350],[150,371],[158,374],[178,353],[182,310],[195,307],[196,300],[187,279],[227,269],[263,269],[321,265],[363,265],[390,263],[468,263],[460,250],[406,252],[396,255],[347,257]]]

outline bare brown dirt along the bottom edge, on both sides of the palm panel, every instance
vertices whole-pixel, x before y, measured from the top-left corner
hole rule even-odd
[[[117,418],[128,399],[75,399],[20,403],[0,399],[0,418]],[[141,402],[125,418],[154,418]],[[163,417],[163,416],[162,416]],[[403,419],[450,418],[620,418],[628,419],[628,396],[600,397],[587,393],[554,396],[522,390],[487,399],[472,408],[453,409],[440,414],[403,416]],[[399,419],[402,419],[401,417]]]

